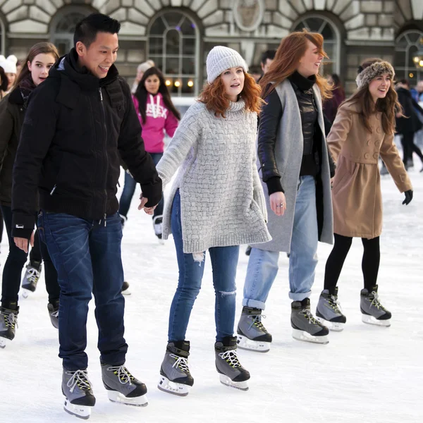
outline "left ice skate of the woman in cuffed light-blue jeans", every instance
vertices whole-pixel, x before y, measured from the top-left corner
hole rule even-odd
[[[238,348],[267,353],[270,350],[271,334],[262,324],[261,309],[243,307],[238,323]]]

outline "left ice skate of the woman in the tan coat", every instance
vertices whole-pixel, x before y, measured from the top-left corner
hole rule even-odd
[[[333,290],[333,293],[327,289],[321,291],[316,308],[316,319],[331,331],[343,331],[347,318],[342,314],[341,304],[338,302],[338,287]]]

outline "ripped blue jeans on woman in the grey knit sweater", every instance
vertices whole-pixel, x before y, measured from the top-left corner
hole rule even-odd
[[[171,226],[176,247],[176,257],[178,258],[179,281],[169,315],[169,342],[185,340],[192,306],[200,292],[204,274],[204,259],[199,262],[194,259],[192,254],[183,252],[179,190],[173,199]],[[233,325],[235,323],[235,276],[239,250],[239,245],[209,249],[216,297],[214,305],[216,341],[223,341],[225,336],[233,336]]]

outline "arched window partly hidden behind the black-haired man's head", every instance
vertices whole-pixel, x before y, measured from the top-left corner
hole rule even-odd
[[[59,50],[60,56],[67,54],[73,47],[76,24],[92,12],[90,8],[71,6],[59,11],[51,20],[50,39]]]

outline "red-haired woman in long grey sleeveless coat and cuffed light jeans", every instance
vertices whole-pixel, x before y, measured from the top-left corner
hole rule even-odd
[[[266,352],[271,335],[262,309],[278,272],[279,252],[289,252],[289,297],[293,337],[328,343],[329,330],[310,312],[317,243],[332,243],[333,162],[324,137],[321,97],[329,85],[318,75],[323,37],[303,30],[284,38],[264,75],[258,157],[272,240],[253,245],[244,286],[238,346]]]

